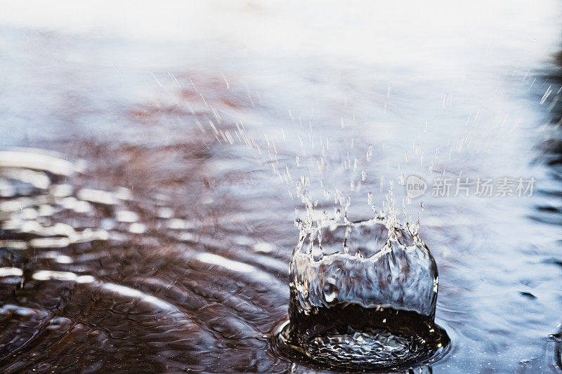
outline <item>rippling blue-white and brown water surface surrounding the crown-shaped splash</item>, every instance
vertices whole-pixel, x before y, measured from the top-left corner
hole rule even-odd
[[[561,370],[558,3],[95,8],[1,18],[2,372],[322,371],[275,347],[298,195],[365,218],[389,180],[450,338],[415,370]],[[461,172],[535,193],[404,199]]]

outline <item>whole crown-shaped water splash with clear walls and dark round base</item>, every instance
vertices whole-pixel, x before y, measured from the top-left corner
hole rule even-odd
[[[437,267],[417,230],[396,213],[299,227],[289,323],[276,340],[282,353],[315,366],[379,370],[419,366],[447,350],[434,323]]]

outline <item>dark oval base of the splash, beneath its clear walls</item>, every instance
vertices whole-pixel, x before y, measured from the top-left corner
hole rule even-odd
[[[416,312],[341,304],[291,319],[276,340],[285,356],[310,366],[367,372],[423,370],[449,343],[445,330]]]

